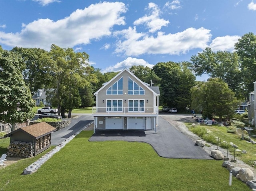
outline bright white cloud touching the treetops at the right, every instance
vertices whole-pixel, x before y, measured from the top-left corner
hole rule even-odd
[[[238,42],[238,39],[240,36],[222,36],[222,37],[216,37],[212,40],[212,43],[210,44],[210,48],[212,51],[233,51],[234,50],[234,44]]]

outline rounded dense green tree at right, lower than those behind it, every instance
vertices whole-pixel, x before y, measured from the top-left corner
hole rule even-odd
[[[220,120],[227,116],[231,118],[238,105],[235,93],[228,84],[219,78],[210,78],[192,87],[192,108],[203,110],[203,117],[218,116]]]

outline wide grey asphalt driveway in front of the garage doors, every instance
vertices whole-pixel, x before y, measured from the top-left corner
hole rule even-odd
[[[195,145],[190,138],[159,116],[159,127],[154,131],[144,130],[97,130],[89,141],[140,141],[150,144],[159,156],[179,159],[212,159]]]

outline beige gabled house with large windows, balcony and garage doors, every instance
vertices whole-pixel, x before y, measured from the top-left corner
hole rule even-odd
[[[160,91],[123,69],[96,93],[95,130],[155,130]]]

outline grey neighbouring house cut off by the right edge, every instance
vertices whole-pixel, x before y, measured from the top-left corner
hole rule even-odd
[[[250,93],[250,101],[248,101],[248,120],[251,125],[256,128],[256,104],[255,104],[255,92],[256,92],[256,82],[254,82],[254,91]]]

